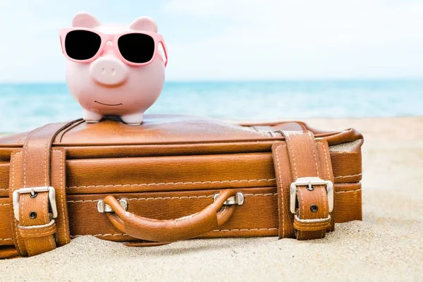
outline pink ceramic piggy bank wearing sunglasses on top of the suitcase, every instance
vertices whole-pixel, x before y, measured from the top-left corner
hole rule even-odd
[[[163,88],[167,63],[166,43],[154,20],[102,25],[80,12],[71,28],[60,30],[60,39],[66,82],[85,121],[120,116],[124,123],[140,125]]]

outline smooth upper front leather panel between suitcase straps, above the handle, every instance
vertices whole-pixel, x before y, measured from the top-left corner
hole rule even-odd
[[[249,169],[254,167],[255,169]],[[275,185],[270,153],[71,160],[69,194]],[[93,178],[101,175],[101,178]],[[142,181],[140,181],[142,180]]]

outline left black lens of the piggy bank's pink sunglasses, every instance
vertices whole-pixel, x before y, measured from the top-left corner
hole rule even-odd
[[[91,59],[101,44],[102,38],[88,30],[72,30],[65,38],[66,54],[74,60]]]

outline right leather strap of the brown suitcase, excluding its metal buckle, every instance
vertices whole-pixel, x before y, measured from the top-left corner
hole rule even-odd
[[[286,142],[275,143],[274,166],[278,185],[279,238],[324,238],[333,230],[326,185],[297,185],[298,205],[290,212],[290,185],[299,178],[320,178],[333,183],[329,146],[305,131],[279,131]]]

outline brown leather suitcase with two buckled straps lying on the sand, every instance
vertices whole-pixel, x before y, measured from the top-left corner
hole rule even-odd
[[[0,257],[80,235],[129,245],[323,238],[362,219],[362,143],[354,129],[166,115],[1,137]]]

